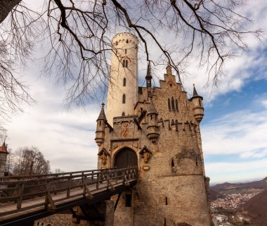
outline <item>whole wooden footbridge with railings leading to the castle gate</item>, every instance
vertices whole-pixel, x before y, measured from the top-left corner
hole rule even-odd
[[[74,206],[93,205],[133,186],[137,176],[133,167],[0,177],[0,225],[27,225]]]

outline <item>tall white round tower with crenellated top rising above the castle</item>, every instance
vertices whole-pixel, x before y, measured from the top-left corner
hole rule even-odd
[[[112,51],[106,111],[110,125],[114,117],[134,115],[138,101],[137,37],[130,33],[116,34]]]

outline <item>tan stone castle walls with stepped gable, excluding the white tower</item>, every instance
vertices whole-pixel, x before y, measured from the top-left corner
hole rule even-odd
[[[136,115],[115,117],[113,131],[105,128],[105,141],[99,147],[99,151],[107,150],[106,166],[110,168],[124,147],[138,156],[138,184],[122,194],[115,211],[115,226],[209,226],[200,125],[192,101],[175,82],[170,68],[160,87],[153,89],[152,101],[146,88],[139,87],[138,93]],[[150,114],[151,109],[157,113]],[[140,117],[143,112],[145,116]],[[138,130],[135,118],[142,130]],[[154,140],[148,136],[152,130],[159,134]],[[148,153],[146,159],[144,150]],[[98,168],[103,168],[100,158]],[[126,206],[129,196],[131,206]],[[115,201],[117,196],[112,199]]]

